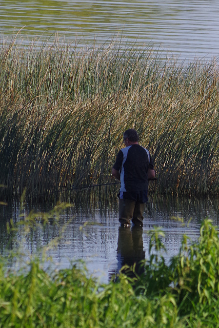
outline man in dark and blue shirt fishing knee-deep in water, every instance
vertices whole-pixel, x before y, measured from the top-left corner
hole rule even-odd
[[[119,221],[121,226],[143,226],[143,212],[148,200],[148,179],[155,177],[149,151],[138,145],[138,134],[128,129],[123,134],[125,148],[121,149],[112,168],[112,175],[121,181]]]

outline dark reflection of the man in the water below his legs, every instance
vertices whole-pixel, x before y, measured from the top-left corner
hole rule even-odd
[[[145,252],[143,251],[143,238],[142,238],[142,228],[132,227],[132,229],[125,229],[124,227],[118,228],[118,248],[117,248],[117,272],[120,272],[124,265],[129,267],[133,266],[135,263],[135,273],[141,275],[144,272],[142,265],[142,260],[145,259]],[[134,277],[135,275],[130,270],[123,270],[123,273],[127,274],[129,277]],[[112,275],[112,274],[111,274]]]

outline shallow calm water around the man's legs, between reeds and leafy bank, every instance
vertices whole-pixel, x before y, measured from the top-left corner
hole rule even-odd
[[[47,212],[48,207],[35,206],[34,210]],[[29,211],[30,208],[27,208],[25,212]],[[136,258],[148,258],[148,231],[153,227],[161,227],[165,232],[165,238],[162,240],[167,249],[165,258],[168,261],[178,253],[183,234],[191,240],[197,240],[200,236],[201,222],[205,218],[211,219],[213,224],[218,226],[218,200],[151,198],[144,216],[142,230],[121,229],[117,201],[103,208],[66,210],[59,219],[60,227],[63,228],[66,222],[70,222],[62,238],[57,241],[56,248],[52,246],[47,251],[47,255],[53,259],[52,268],[69,268],[71,262],[82,259],[86,263],[89,275],[93,274],[101,282],[107,283],[113,274],[118,273],[124,261],[130,264]],[[184,218],[185,224],[172,219],[173,216]],[[1,206],[0,218],[0,248],[3,251],[9,241],[6,222],[9,218],[13,218],[14,222],[19,221],[19,207]],[[49,242],[59,235],[59,229],[50,224],[43,230],[36,229],[24,235],[24,228],[19,228],[9,243],[9,248],[17,250],[21,245],[25,259],[28,259],[37,249],[48,247]],[[50,264],[45,263],[46,267]]]

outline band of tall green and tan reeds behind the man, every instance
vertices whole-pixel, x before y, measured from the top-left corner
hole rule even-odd
[[[0,50],[1,193],[48,195],[110,181],[122,133],[154,157],[161,193],[218,192],[218,68],[115,45]]]

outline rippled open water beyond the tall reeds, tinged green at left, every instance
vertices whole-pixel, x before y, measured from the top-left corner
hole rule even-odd
[[[0,1],[0,28],[11,39],[19,33],[24,44],[39,38],[52,42],[54,34],[79,47],[121,39],[143,49],[148,45],[183,60],[219,54],[219,2],[217,0],[136,1]]]

